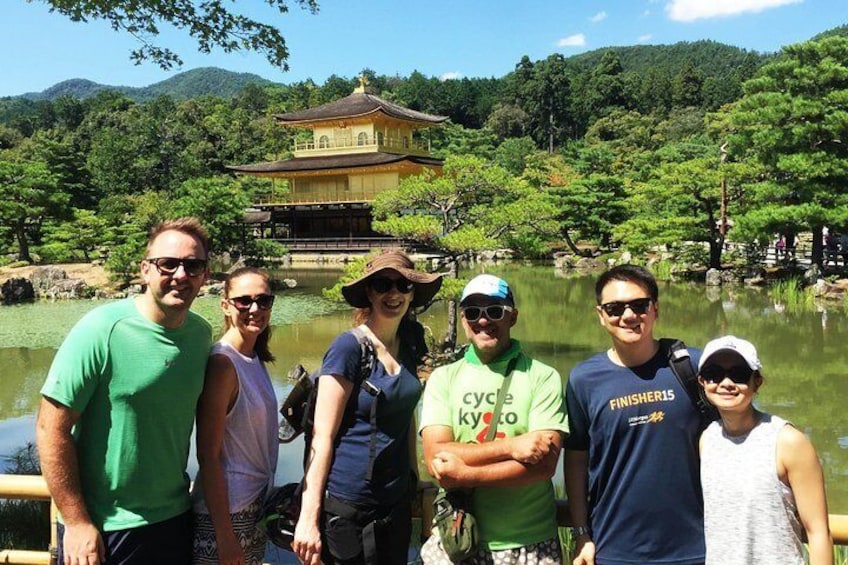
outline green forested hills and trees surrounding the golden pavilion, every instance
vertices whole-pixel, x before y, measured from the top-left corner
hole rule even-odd
[[[426,133],[435,156],[460,159],[451,164],[459,169],[499,167],[537,189],[546,199],[539,210],[552,210],[559,227],[527,236],[533,253],[563,240],[634,250],[697,241],[716,266],[722,210],[740,241],[838,228],[848,218],[848,155],[838,142],[848,132],[845,120],[830,119],[843,112],[842,71],[831,67],[848,65],[844,31],[779,54],[699,41],[525,56],[499,78],[361,74],[387,100],[450,118]],[[815,80],[796,84],[799,76]],[[0,264],[89,260],[106,248],[110,269],[131,273],[146,230],[173,214],[209,218],[223,248],[243,245],[242,211],[269,185],[234,178],[227,166],[285,158],[304,134],[271,116],[337,100],[358,84],[355,76],[278,84],[196,69],[144,89],[76,80],[39,100],[0,99]],[[773,123],[793,112],[801,114]],[[784,153],[793,158],[775,157]],[[814,170],[819,163],[827,165]],[[783,201],[795,208],[776,212]],[[525,223],[541,225],[537,216]]]

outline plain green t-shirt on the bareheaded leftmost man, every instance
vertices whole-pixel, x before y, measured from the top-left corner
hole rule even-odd
[[[211,344],[197,314],[167,329],[127,299],[86,314],[56,353],[41,394],[81,413],[73,435],[82,493],[104,531],[191,507],[186,463]]]

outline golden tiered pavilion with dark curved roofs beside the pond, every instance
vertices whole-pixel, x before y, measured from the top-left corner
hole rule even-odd
[[[245,234],[274,239],[293,251],[378,247],[391,243],[372,227],[371,203],[407,176],[440,172],[421,131],[446,120],[366,92],[275,116],[282,126],[312,130],[293,157],[229,167],[272,181],[245,215]]]

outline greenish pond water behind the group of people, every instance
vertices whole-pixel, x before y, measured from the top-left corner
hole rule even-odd
[[[515,289],[520,315],[514,336],[529,353],[556,367],[563,379],[576,363],[609,347],[593,310],[591,278],[564,277],[549,266],[497,265],[487,270]],[[288,387],[288,369],[296,362],[307,369],[320,365],[330,340],[350,326],[350,309],[321,297],[321,288],[337,275],[284,274],[299,284],[283,292],[274,306],[271,348],[278,361],[270,371],[281,398]],[[97,304],[40,302],[0,308],[0,456],[33,441],[38,391],[55,350],[71,326]],[[202,297],[195,304],[220,327],[216,298]],[[791,310],[757,289],[665,283],[660,287],[656,332],[699,347],[726,333],[753,341],[766,379],[760,408],[794,422],[810,436],[824,465],[829,510],[848,514],[848,410],[843,405],[848,398],[848,317],[842,305]],[[421,320],[441,338],[445,305],[437,304]],[[282,450],[278,481],[300,478],[301,443]],[[192,462],[191,471],[195,469]]]

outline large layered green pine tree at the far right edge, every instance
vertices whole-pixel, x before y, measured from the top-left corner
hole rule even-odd
[[[822,227],[848,220],[848,38],[785,47],[744,88],[714,117],[729,130],[731,159],[762,167],[739,223],[760,235],[812,230],[821,264]]]

